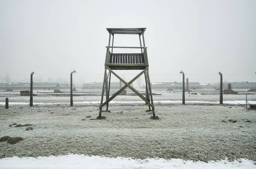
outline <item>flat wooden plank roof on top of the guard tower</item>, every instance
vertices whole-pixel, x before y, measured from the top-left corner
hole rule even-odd
[[[107,28],[110,34],[138,34],[145,32],[146,28]]]

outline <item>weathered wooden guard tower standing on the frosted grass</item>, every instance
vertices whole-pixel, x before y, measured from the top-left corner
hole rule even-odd
[[[108,103],[114,99],[119,93],[125,90],[126,87],[129,87],[134,93],[136,93],[141,99],[143,99],[146,104],[148,104],[149,110],[152,108],[153,116],[152,119],[158,119],[155,115],[154,104],[153,104],[153,96],[151,92],[151,83],[149,79],[148,73],[148,54],[147,47],[145,47],[145,39],[144,32],[146,28],[107,28],[109,33],[108,46],[106,52],[105,59],[105,73],[103,79],[103,87],[102,87],[102,98],[99,106],[99,116],[97,119],[104,119],[105,116],[102,116],[102,107],[107,106],[108,111]],[[137,34],[140,39],[140,47],[124,47],[124,46],[113,46],[114,35],[115,34]],[[111,43],[111,35],[112,35],[112,46]],[[141,36],[143,39],[143,46],[141,43]],[[113,48],[138,48],[140,49],[140,53],[113,53]],[[142,70],[137,76],[135,76],[130,82],[125,82],[120,76],[118,76],[113,70]],[[115,75],[120,81],[122,81],[125,86],[123,86],[120,90],[114,93],[111,97],[109,97],[110,93],[110,85],[111,85],[111,73]],[[146,83],[146,94],[145,97],[140,94],[137,90],[135,90],[131,83],[133,83],[136,79],[138,79],[141,75],[145,76]],[[106,92],[106,101],[103,102],[104,93]]]

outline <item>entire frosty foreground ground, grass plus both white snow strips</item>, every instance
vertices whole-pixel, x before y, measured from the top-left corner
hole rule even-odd
[[[186,93],[182,105],[181,93],[157,92],[159,120],[150,119],[152,112],[138,96],[117,96],[111,112],[102,113],[105,120],[94,120],[100,96],[75,96],[73,107],[69,97],[35,96],[29,107],[29,97],[12,96],[9,109],[0,97],[0,137],[24,138],[14,145],[0,142],[0,168],[256,167],[256,111],[245,109],[245,95],[224,95],[219,105],[219,95]],[[248,99],[252,103],[256,95]],[[9,127],[13,123],[32,124],[34,130]]]

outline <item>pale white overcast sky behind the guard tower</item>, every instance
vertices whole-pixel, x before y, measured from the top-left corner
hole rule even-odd
[[[106,28],[140,27],[151,82],[181,81],[181,69],[194,82],[218,82],[219,71],[256,82],[256,0],[0,0],[0,76],[75,69],[77,78],[96,74],[101,82]],[[139,45],[137,36],[115,40]]]

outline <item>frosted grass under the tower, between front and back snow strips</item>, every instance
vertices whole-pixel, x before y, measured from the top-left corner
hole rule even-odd
[[[111,113],[102,114],[105,120],[94,120],[99,113],[98,104],[13,105],[7,110],[1,106],[0,137],[24,140],[13,145],[0,142],[0,158],[73,153],[256,161],[255,110],[228,104],[157,103],[155,107],[159,120],[150,119],[151,112],[145,111],[145,104],[111,104]],[[9,127],[13,123],[32,124],[33,130]]]

